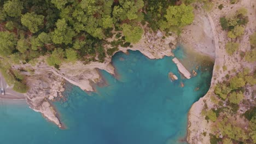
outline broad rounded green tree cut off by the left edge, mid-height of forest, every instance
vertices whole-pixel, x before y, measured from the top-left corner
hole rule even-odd
[[[17,39],[13,33],[0,32],[0,55],[9,56],[17,44]]]

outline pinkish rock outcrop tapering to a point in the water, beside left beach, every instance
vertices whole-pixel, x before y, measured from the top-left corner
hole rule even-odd
[[[56,117],[56,110],[51,106],[49,99],[62,97],[64,79],[49,71],[27,77],[27,85],[30,89],[25,96],[31,109],[41,112],[46,118],[61,127],[61,123]]]

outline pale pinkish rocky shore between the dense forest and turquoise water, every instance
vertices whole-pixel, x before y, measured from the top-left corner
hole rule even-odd
[[[144,35],[137,44],[132,44],[133,47],[119,47],[120,51],[127,52],[127,50],[140,51],[148,58],[162,58],[164,56],[172,56],[171,49],[176,46],[176,36],[169,36],[162,39],[164,34],[162,32],[152,33],[144,29]],[[106,46],[107,48],[108,46]],[[112,56],[107,56],[103,63],[90,62],[84,64],[83,62],[63,63],[59,70],[50,67],[45,63],[45,57],[38,58],[38,63],[35,65],[22,64],[14,65],[14,69],[26,69],[31,71],[23,72],[27,75],[27,85],[30,87],[25,94],[27,103],[30,107],[42,113],[46,118],[61,127],[61,122],[56,116],[56,110],[51,105],[50,101],[56,97],[62,97],[61,92],[65,89],[63,85],[65,81],[79,86],[84,91],[94,91],[91,86],[101,80],[97,69],[108,71],[110,74],[114,73],[114,67],[110,63]]]

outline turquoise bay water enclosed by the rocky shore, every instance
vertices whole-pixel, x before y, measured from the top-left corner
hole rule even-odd
[[[97,92],[86,94],[67,84],[66,100],[54,103],[65,130],[29,109],[24,101],[1,100],[0,143],[186,143],[188,111],[208,91],[211,70],[197,70],[196,77],[181,79],[171,59],[119,52],[112,59],[118,79],[101,70],[106,86],[96,85]],[[179,80],[169,80],[170,71]]]

